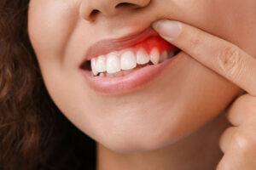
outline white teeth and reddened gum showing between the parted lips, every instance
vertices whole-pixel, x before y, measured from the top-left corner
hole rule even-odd
[[[148,65],[159,65],[172,59],[180,51],[159,36],[148,37],[129,48],[86,60],[81,68],[90,71],[94,77],[125,77]]]

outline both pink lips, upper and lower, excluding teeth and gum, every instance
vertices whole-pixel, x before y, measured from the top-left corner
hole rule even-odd
[[[146,40],[148,37],[154,36],[160,37],[152,28],[148,28],[143,32],[121,39],[97,42],[89,49],[83,63],[101,54],[108,54],[115,50],[131,47],[139,42],[143,42],[143,40]],[[150,82],[153,82],[156,77],[160,77],[161,72],[164,71],[168,65],[172,65],[172,63],[174,63],[173,60],[176,58],[177,56],[174,56],[172,59],[167,59],[165,62],[158,65],[144,66],[132,71],[124,77],[94,77],[91,71],[83,69],[82,66],[79,70],[82,72],[85,81],[96,92],[106,95],[126,94],[136,89],[143,88]]]

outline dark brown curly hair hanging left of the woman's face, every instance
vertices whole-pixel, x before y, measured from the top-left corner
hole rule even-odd
[[[61,114],[44,86],[28,4],[0,1],[0,169],[95,169],[95,141]]]

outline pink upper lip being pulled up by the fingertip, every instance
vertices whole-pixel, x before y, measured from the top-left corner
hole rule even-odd
[[[148,27],[146,30],[133,32],[125,37],[118,39],[105,39],[94,43],[85,54],[85,60],[90,60],[96,56],[102,54],[108,54],[110,52],[129,48],[136,45],[138,42],[142,42],[148,37],[157,36],[158,33],[153,30],[152,27]]]

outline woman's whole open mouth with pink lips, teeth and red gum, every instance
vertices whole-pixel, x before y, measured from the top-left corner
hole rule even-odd
[[[125,94],[153,82],[180,52],[148,28],[130,37],[96,43],[79,68],[97,92]]]

